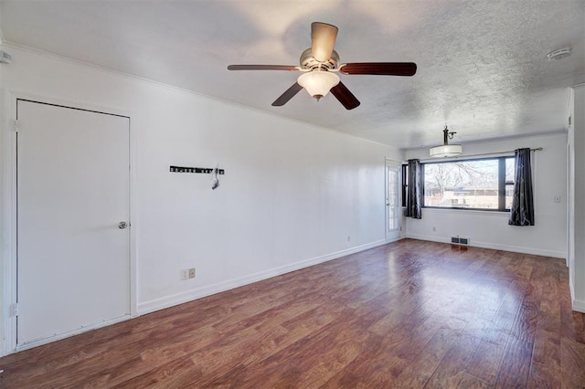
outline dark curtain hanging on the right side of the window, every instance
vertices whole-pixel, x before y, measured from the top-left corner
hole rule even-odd
[[[534,226],[530,149],[518,149],[515,154],[514,195],[508,225]]]

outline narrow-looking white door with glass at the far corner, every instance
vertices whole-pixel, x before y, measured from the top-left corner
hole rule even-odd
[[[400,237],[400,164],[386,161],[386,240]]]

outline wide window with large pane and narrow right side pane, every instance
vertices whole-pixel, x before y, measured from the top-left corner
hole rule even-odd
[[[423,206],[508,211],[514,157],[423,163]]]

